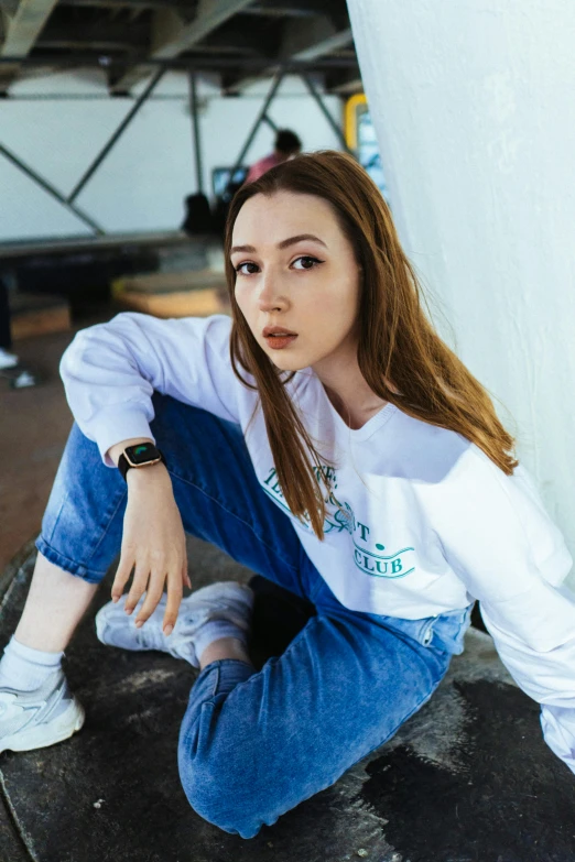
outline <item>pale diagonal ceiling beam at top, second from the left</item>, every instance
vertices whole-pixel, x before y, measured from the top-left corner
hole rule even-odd
[[[252,0],[199,0],[197,14],[188,23],[185,23],[173,9],[158,11],[153,24],[150,58],[173,59],[184,51],[189,51],[251,2]],[[113,81],[110,89],[112,92],[130,90],[147,75],[145,67],[133,66]]]

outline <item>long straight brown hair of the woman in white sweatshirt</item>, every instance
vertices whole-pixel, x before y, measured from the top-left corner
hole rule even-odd
[[[344,153],[300,155],[238,190],[229,208],[225,240],[232,312],[231,363],[239,380],[259,393],[276,479],[292,513],[308,521],[323,538],[324,495],[329,489],[322,479],[321,457],[285,390],[293,373],[286,374],[272,363],[238,307],[229,254],[234,225],[243,204],[254,195],[276,192],[326,200],[352,245],[362,276],[357,358],[369,388],[409,416],[463,435],[505,473],[512,473],[518,463],[512,456],[513,438],[499,422],[487,391],[425,316],[417,277],[375,183]],[[254,385],[242,372],[252,375]]]

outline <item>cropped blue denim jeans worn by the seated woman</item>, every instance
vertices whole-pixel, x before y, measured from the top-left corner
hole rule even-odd
[[[470,608],[402,620],[345,608],[261,490],[238,426],[154,395],[152,424],[184,528],[316,609],[257,672],[232,659],[197,677],[180,733],[192,807],[252,838],[334,784],[431,697],[463,651]],[[75,425],[44,515],[39,550],[99,582],[120,550],[127,488]]]

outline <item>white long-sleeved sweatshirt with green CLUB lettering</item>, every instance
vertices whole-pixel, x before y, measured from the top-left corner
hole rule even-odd
[[[288,390],[333,465],[321,542],[285,505],[261,410],[250,424],[257,393],[231,369],[229,331],[221,315],[120,314],[78,332],[62,377],[105,463],[113,444],[153,439],[154,390],[238,423],[262,489],[344,605],[415,620],[480,600],[502,662],[542,705],[547,744],[575,773],[575,594],[562,586],[573,561],[527,471],[508,477],[460,435],[391,404],[351,430],[304,369]]]

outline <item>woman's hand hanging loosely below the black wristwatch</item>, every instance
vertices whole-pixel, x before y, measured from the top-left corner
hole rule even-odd
[[[123,517],[120,565],[112,585],[112,601],[120,600],[132,568],[134,576],[126,600],[132,613],[147,593],[135,625],[151,617],[167,582],[163,619],[165,635],[172,633],[182,601],[183,585],[192,587],[187,575],[184,527],[174,500],[170,473],[163,463],[133,468],[127,472],[128,505]]]

